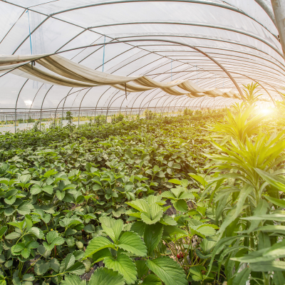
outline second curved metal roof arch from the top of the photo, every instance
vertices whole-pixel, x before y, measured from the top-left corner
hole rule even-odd
[[[91,26],[88,29],[90,29],[90,28],[101,28],[101,27],[105,27],[105,26],[124,26],[124,25],[140,25],[140,24],[167,24],[167,25],[182,25],[182,26],[199,26],[199,27],[204,27],[204,28],[217,28],[219,30],[232,31],[234,33],[241,33],[244,36],[249,36],[250,38],[255,38],[258,41],[265,43],[267,46],[274,49],[274,51],[276,51],[276,53],[279,53],[281,56],[283,56],[281,51],[279,51],[278,48],[274,47],[271,43],[269,43],[268,41],[265,41],[263,38],[260,38],[259,36],[255,36],[252,33],[247,33],[245,31],[237,30],[236,28],[227,28],[227,27],[223,27],[223,26],[214,26],[214,25],[207,25],[207,24],[187,23],[187,22],[172,22],[172,21],[169,21],[169,22],[168,21],[167,22],[141,21],[141,22],[125,22],[125,23],[117,23],[117,24],[106,24],[106,25],[100,25],[100,26]]]

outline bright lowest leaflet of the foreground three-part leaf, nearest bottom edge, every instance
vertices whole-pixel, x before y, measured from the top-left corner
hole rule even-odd
[[[133,284],[137,280],[135,263],[130,257],[123,253],[118,254],[117,259],[106,257],[104,264],[108,269],[113,269],[122,274],[127,284]]]

